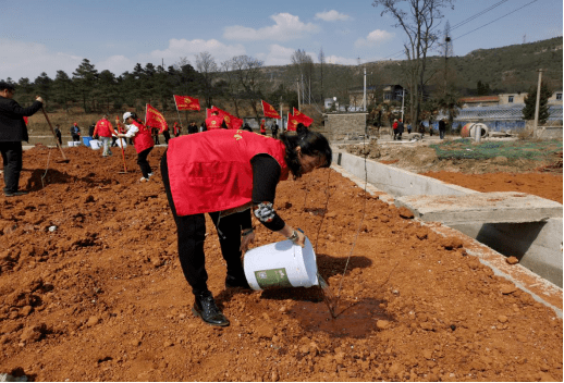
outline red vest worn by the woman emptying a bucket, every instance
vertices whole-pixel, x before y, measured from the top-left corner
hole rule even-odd
[[[253,200],[250,160],[270,155],[287,180],[281,140],[246,131],[216,129],[171,139],[167,153],[170,188],[179,215],[241,207]]]

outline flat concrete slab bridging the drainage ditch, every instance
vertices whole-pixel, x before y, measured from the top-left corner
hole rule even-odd
[[[562,218],[562,205],[525,193],[495,192],[468,196],[404,196],[395,199],[424,221],[456,224],[544,222]]]

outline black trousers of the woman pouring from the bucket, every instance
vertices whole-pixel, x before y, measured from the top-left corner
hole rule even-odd
[[[184,277],[192,286],[194,295],[208,291],[208,273],[206,271],[206,256],[204,242],[206,239],[206,218],[204,214],[183,215],[176,214],[174,201],[170,192],[169,168],[167,165],[167,152],[161,160],[161,175],[169,206],[174,217],[177,231],[179,258]],[[218,230],[221,255],[228,263],[228,275],[244,277],[243,263],[241,262],[241,230],[245,219],[248,221],[248,210],[219,218],[219,212],[209,213],[213,225]]]

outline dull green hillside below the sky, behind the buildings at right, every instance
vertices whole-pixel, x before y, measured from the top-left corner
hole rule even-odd
[[[478,49],[463,57],[449,58],[449,66],[454,72],[456,88],[462,94],[471,95],[478,81],[487,83],[492,92],[527,91],[537,84],[537,69],[547,70],[543,78],[556,87],[562,87],[563,60],[562,37],[529,44],[513,45],[493,49]],[[430,57],[428,76],[441,74],[444,58]],[[342,87],[361,87],[364,67],[367,69],[367,84],[405,84],[403,74],[406,62],[378,61],[358,65],[323,65],[323,94],[338,95]],[[314,79],[320,78],[320,64],[315,64]],[[296,74],[292,65],[267,66],[265,74],[272,78],[273,86],[284,84],[296,88]],[[442,78],[442,77],[441,77]],[[432,84],[433,79],[429,81]],[[315,88],[319,86],[316,84]],[[319,94],[319,90],[316,91]]]

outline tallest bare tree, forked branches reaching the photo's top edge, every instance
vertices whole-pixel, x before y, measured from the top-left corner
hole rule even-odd
[[[390,14],[394,21],[394,27],[401,27],[406,36],[404,44],[405,54],[409,65],[412,77],[412,91],[409,94],[410,121],[419,121],[419,112],[422,103],[425,85],[425,71],[427,52],[438,40],[436,34],[439,21],[443,17],[441,9],[453,7],[454,0],[373,0],[373,7],[382,7],[384,13]]]

